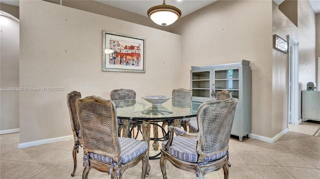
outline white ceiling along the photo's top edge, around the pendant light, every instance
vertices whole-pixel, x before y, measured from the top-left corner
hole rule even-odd
[[[63,0],[62,0],[63,1]],[[147,16],[146,11],[154,5],[162,4],[162,0],[96,0],[107,5],[124,9],[133,13]],[[178,7],[182,11],[181,16],[194,12],[216,0],[166,0],[165,3]],[[284,0],[273,0],[280,4]],[[309,0],[315,13],[320,13],[320,0]],[[19,0],[1,0],[1,3],[19,6]]]

